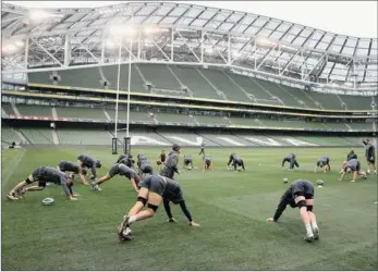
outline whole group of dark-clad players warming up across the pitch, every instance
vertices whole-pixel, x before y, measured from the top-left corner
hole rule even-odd
[[[364,140],[366,146],[366,160],[368,163],[367,174],[373,168],[376,174],[375,168],[375,146],[369,139]],[[181,185],[174,180],[175,174],[180,174],[179,170],[179,157],[181,153],[181,147],[176,144],[172,146],[172,150],[166,154],[162,150],[156,160],[159,166],[159,174],[154,173],[154,169],[150,165],[149,160],[143,153],[137,154],[137,161],[133,160],[132,154],[121,154],[115,163],[109,169],[109,172],[100,178],[97,178],[96,169],[101,168],[101,162],[96,158],[88,154],[80,154],[77,162],[61,161],[57,168],[40,166],[32,172],[27,178],[14,186],[9,194],[10,200],[22,199],[27,191],[42,190],[49,183],[61,185],[65,196],[70,200],[77,200],[78,195],[73,193],[74,174],[78,175],[82,184],[88,185],[85,176],[88,170],[92,171],[90,187],[93,190],[102,190],[99,185],[111,180],[115,175],[125,176],[132,185],[132,188],[137,193],[137,199],[135,205],[123,217],[121,224],[118,228],[118,236],[121,242],[133,239],[131,225],[137,221],[153,218],[160,203],[163,203],[166,213],[168,215],[168,222],[176,222],[173,218],[170,203],[180,205],[183,213],[188,220],[188,225],[199,226],[194,222],[192,214],[186,206],[184,198],[184,191]],[[205,143],[200,146],[200,152],[203,154],[203,171],[212,171],[214,162],[209,154],[205,153]],[[294,166],[300,168],[294,153],[290,153],[282,160],[282,168],[285,162],[290,162],[290,170],[294,170]],[[229,170],[233,169],[237,171],[237,168],[245,171],[243,159],[237,153],[231,153],[227,163]],[[330,158],[320,157],[316,161],[315,173],[318,169],[324,169],[327,173],[331,171]],[[193,159],[191,154],[184,154],[183,169],[193,169]],[[356,176],[359,175],[366,178],[366,173],[361,170],[361,162],[357,159],[357,154],[352,149],[346,156],[346,161],[342,163],[340,171],[340,182],[346,173],[353,173],[352,182],[355,182]],[[38,182],[36,186],[28,186]],[[314,186],[309,181],[296,180],[294,181],[288,190],[282,195],[276,213],[272,218],[268,218],[269,222],[277,222],[285,210],[286,206],[300,209],[300,217],[305,226],[306,235],[305,240],[312,242],[319,238],[319,227],[316,223],[316,215],[313,212],[314,209]]]

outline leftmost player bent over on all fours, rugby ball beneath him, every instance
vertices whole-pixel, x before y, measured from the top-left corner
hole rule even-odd
[[[35,182],[38,182],[38,186],[24,188]],[[72,191],[73,175],[69,176],[58,169],[48,166],[36,169],[24,182],[19,183],[10,193],[8,193],[8,199],[19,200],[26,191],[42,190],[46,187],[46,183],[61,185],[64,194],[70,200],[77,200],[76,197],[78,197],[78,195],[75,195]]]

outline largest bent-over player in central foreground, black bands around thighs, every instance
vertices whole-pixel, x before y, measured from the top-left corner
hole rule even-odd
[[[179,183],[171,178],[161,175],[150,175],[139,183],[139,188],[136,203],[129,213],[124,215],[118,228],[118,235],[121,242],[132,239],[131,224],[135,221],[153,218],[162,199],[164,199],[166,205],[167,201],[168,203],[169,201],[180,203],[182,208],[184,207],[183,211],[186,210],[188,212],[185,206],[184,194]],[[146,203],[147,209],[143,210]],[[190,213],[186,213],[185,211],[184,213],[188,218],[191,226],[198,226],[198,224],[193,221]],[[173,221],[173,217],[169,211],[167,211],[167,214],[170,218],[170,221]]]

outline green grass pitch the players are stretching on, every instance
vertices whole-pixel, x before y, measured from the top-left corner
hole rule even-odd
[[[159,149],[136,149],[155,161]],[[76,161],[81,152],[102,162],[99,175],[117,160],[107,149],[20,149],[2,153],[2,270],[377,270],[377,175],[350,183],[338,182],[346,149],[236,149],[246,172],[225,168],[231,149],[207,149],[215,171],[182,171],[178,181],[200,227],[190,227],[180,207],[172,212],[179,221],[167,223],[163,207],[146,222],[133,224],[134,240],[120,244],[117,226],[136,200],[124,177],[106,182],[102,191],[77,184],[78,201],[69,201],[60,186],[28,193],[23,200],[5,195],[37,166]],[[235,151],[235,150],[233,150]],[[293,151],[301,169],[281,169],[282,158]],[[199,149],[192,152],[197,168]],[[357,150],[366,170],[364,150]],[[331,173],[315,174],[315,161],[331,157]],[[260,163],[260,166],[257,164]],[[182,158],[180,161],[182,165]],[[321,178],[315,190],[314,211],[320,240],[303,240],[305,230],[298,210],[290,207],[280,223],[268,223],[290,182]],[[52,197],[56,203],[44,207]]]

